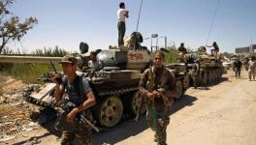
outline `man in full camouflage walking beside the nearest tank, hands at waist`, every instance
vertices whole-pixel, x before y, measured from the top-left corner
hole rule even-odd
[[[176,96],[175,79],[164,67],[164,62],[164,53],[157,51],[153,67],[144,71],[139,86],[146,102],[147,124],[155,131],[154,141],[158,145],[166,144],[166,129],[170,123],[169,114]]]

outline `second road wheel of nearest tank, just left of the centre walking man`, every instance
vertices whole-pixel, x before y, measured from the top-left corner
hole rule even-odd
[[[138,110],[140,109],[140,115],[145,112],[145,103],[143,102],[143,96],[140,91],[136,91],[130,101],[130,112],[132,115],[137,115]]]

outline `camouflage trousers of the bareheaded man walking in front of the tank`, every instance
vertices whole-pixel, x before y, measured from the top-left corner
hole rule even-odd
[[[147,109],[149,110],[149,108]],[[158,145],[166,145],[166,138],[167,138],[167,126],[170,124],[169,118],[169,111],[156,111],[156,119],[155,119],[155,126],[153,127],[150,123],[150,116],[151,114],[147,113],[147,124],[149,127],[155,131],[154,141],[157,142]]]

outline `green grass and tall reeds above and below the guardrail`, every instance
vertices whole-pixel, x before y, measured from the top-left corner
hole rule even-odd
[[[44,48],[44,49],[36,49],[34,52],[29,54],[20,53],[19,50],[17,52],[6,48],[3,50],[2,55],[34,55],[34,56],[51,56],[51,57],[62,57],[66,55],[68,52],[64,49],[61,49],[58,46],[54,48]],[[55,65],[57,71],[60,71],[61,66]],[[0,72],[4,75],[11,75],[16,79],[20,79],[26,83],[38,83],[38,78],[43,73],[50,73],[53,69],[50,64],[21,64],[21,63],[0,63]],[[2,89],[2,87],[1,87]],[[1,94],[1,90],[0,90]]]

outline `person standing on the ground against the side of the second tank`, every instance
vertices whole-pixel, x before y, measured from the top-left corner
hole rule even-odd
[[[197,78],[200,75],[200,59],[196,59],[194,61],[194,63],[192,64],[192,70],[189,71],[190,75],[192,76],[192,80],[193,80],[193,86],[195,89],[197,89],[198,87],[198,82],[197,82]]]

